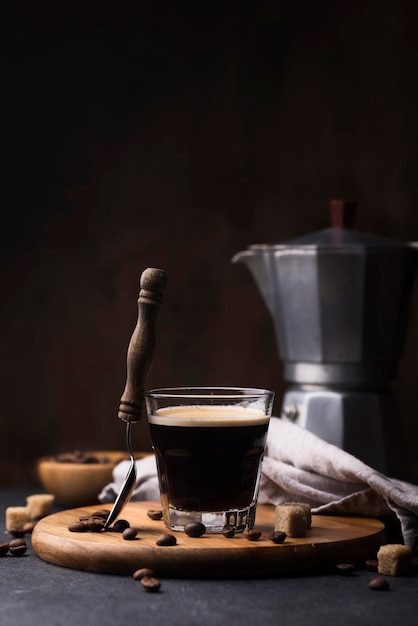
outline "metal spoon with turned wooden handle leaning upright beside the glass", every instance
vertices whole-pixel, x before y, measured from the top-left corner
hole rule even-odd
[[[136,462],[132,452],[131,425],[142,417],[144,405],[144,380],[151,367],[155,347],[155,320],[167,283],[163,270],[148,268],[142,272],[138,298],[138,321],[129,342],[126,368],[126,385],[119,404],[119,419],[126,422],[126,447],[130,466],[112,510],[105,530],[118,517],[129,501],[136,482]]]

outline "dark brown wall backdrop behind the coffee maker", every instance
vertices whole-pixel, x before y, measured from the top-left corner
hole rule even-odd
[[[269,387],[277,411],[271,319],[231,257],[325,228],[333,196],[418,239],[417,3],[251,4],[2,4],[0,485],[124,447],[146,267],[169,278],[147,386]],[[395,386],[415,468],[417,345],[415,293]]]

